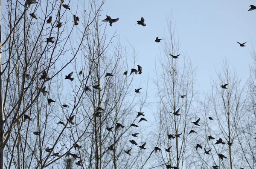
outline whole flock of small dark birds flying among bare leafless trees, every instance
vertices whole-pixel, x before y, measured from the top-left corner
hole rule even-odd
[[[63,2],[64,2],[64,0],[61,0],[61,5],[62,5],[65,9],[70,10],[70,6],[68,6],[67,4],[62,4]],[[26,1],[26,5],[27,5],[27,6],[30,6],[31,4],[35,4],[35,3],[38,3],[38,2],[37,2],[36,0],[27,0],[27,1]],[[249,9],[248,11],[252,11],[252,10],[256,10],[256,6],[250,5],[250,9]],[[35,18],[35,19],[38,19],[38,17],[37,17],[36,14],[34,14],[34,13],[31,13],[31,14],[29,14],[29,15],[30,15],[31,17]],[[74,19],[74,25],[78,25],[79,17],[77,17],[76,15],[73,14],[73,19]],[[115,23],[115,22],[117,22],[118,20],[119,20],[119,18],[112,19],[110,16],[107,15],[107,18],[104,19],[104,20],[102,20],[102,22],[109,22],[109,25],[112,26],[112,24]],[[137,25],[141,25],[141,26],[146,26],[146,24],[145,24],[144,22],[145,22],[145,19],[144,19],[143,17],[141,17],[141,19],[138,20],[136,24],[137,24]],[[47,19],[47,23],[52,23],[52,16],[50,16],[49,19]],[[55,27],[59,29],[59,28],[61,28],[62,25],[63,25],[63,24],[62,24],[61,22],[58,22]],[[47,38],[47,43],[49,43],[49,42],[50,42],[50,43],[54,43],[53,38],[54,38],[54,37],[49,37],[49,38]],[[160,40],[163,40],[163,39],[160,39],[160,38],[156,37],[155,42],[159,43]],[[237,42],[237,43],[239,43],[239,42]],[[245,42],[245,43],[246,43],[246,42]],[[245,43],[239,43],[239,45],[240,45],[241,47],[244,47],[244,44],[245,44]],[[178,56],[180,56],[180,54],[178,54],[178,55],[169,54],[169,55],[172,56],[174,59],[178,59],[178,58],[179,58]],[[137,66],[138,66],[138,69],[131,69],[130,75],[133,74],[133,73],[135,73],[135,74],[142,74],[142,67],[141,67],[140,65],[137,65]],[[123,74],[124,74],[124,75],[127,75],[127,73],[128,73],[128,72],[125,71]],[[79,74],[81,75],[81,74],[82,74],[82,71],[80,71]],[[73,72],[71,72],[70,74],[66,75],[66,76],[65,76],[65,79],[70,80],[70,81],[72,82],[72,81],[74,80],[74,78],[72,77],[72,75],[73,75]],[[113,76],[113,74],[111,74],[111,73],[106,73],[105,77],[108,77],[108,76]],[[26,74],[26,78],[29,79],[29,77],[30,77],[30,75],[29,75],[29,74]],[[39,80],[49,80],[49,77],[47,77],[46,71],[44,71],[44,72],[42,73],[42,75],[41,75],[41,77],[39,78]],[[221,88],[227,89],[227,85],[228,85],[228,83],[227,83],[227,84],[224,84],[224,85],[221,85]],[[92,86],[92,87],[93,87],[94,89],[96,89],[96,90],[101,90],[101,88],[100,88],[99,85],[94,85],[94,86]],[[142,88],[135,89],[134,92],[140,93],[140,89],[142,89]],[[91,89],[89,88],[89,86],[86,86],[86,87],[85,87],[85,92],[87,92],[87,91],[89,91],[89,92],[91,91]],[[44,87],[44,88],[41,90],[41,92],[43,93],[43,95],[47,95],[46,87]],[[186,95],[181,95],[181,98],[184,98],[184,97],[186,97]],[[50,106],[51,103],[55,103],[55,100],[52,100],[52,99],[50,99],[50,98],[48,98],[47,100],[48,100],[48,105],[49,105],[49,106]],[[68,106],[67,104],[63,104],[62,106],[63,106],[64,108],[69,108],[69,106]],[[94,113],[93,115],[96,116],[96,117],[101,117],[102,111],[104,111],[104,109],[102,109],[101,107],[98,107],[98,108],[96,109],[96,113]],[[175,116],[179,116],[179,115],[180,115],[180,114],[179,114],[179,111],[180,111],[180,109],[178,109],[176,112],[170,112],[170,113],[172,113],[172,114],[175,115]],[[140,123],[141,121],[147,121],[147,120],[144,118],[144,116],[145,116],[145,115],[144,115],[144,112],[138,112],[136,118],[138,118],[138,117],[140,117],[140,116],[143,116],[143,117],[140,118],[140,120],[139,120],[138,123]],[[71,117],[67,118],[67,123],[70,123],[71,125],[74,125],[74,124],[75,124],[75,123],[73,122],[74,118],[75,118],[75,115],[72,115]],[[28,120],[32,120],[32,118],[30,118],[28,115],[24,115],[24,120],[27,120],[27,119],[28,119]],[[209,120],[213,120],[213,118],[212,118],[212,117],[209,117]],[[198,120],[196,120],[195,122],[192,122],[192,123],[193,123],[195,126],[200,126],[200,125],[198,124],[199,122],[200,122],[200,118],[199,118]],[[66,126],[67,123],[64,123],[64,122],[62,122],[62,121],[59,121],[57,124],[61,124],[61,125],[63,125],[63,126]],[[131,127],[139,127],[138,125],[136,125],[136,124],[134,124],[134,123],[132,123],[130,126],[131,126]],[[123,126],[121,123],[116,123],[116,128],[115,128],[115,129],[116,129],[116,131],[117,131],[119,128],[124,128],[124,127],[125,127],[125,126]],[[106,129],[107,129],[109,132],[113,132],[113,128],[114,128],[114,127],[108,127],[108,126],[107,126]],[[35,135],[41,135],[41,132],[33,132],[33,133],[34,133]],[[197,134],[197,132],[195,132],[195,130],[191,130],[191,131],[189,132],[189,134],[191,134],[191,133]],[[189,135],[189,134],[188,134],[188,135]],[[131,134],[131,136],[133,136],[133,137],[138,137],[137,135],[139,135],[139,133]],[[182,133],[180,133],[180,134],[167,134],[167,136],[168,136],[168,138],[169,138],[170,140],[171,140],[171,139],[178,138],[178,137],[180,137],[180,135],[182,135]],[[215,138],[212,137],[212,136],[208,136],[208,139],[209,139],[209,141],[211,141],[211,140],[214,140]],[[133,139],[132,139],[132,140],[129,140],[129,142],[130,142],[132,145],[136,145],[136,146],[138,145],[138,144],[136,143],[136,141],[133,140]],[[219,140],[216,141],[215,145],[217,145],[217,144],[222,144],[222,145],[224,145],[225,143],[224,143],[224,141],[223,141],[221,138],[219,138]],[[227,144],[228,144],[228,146],[232,146],[233,143],[230,143],[229,141],[227,141]],[[139,146],[140,149],[146,149],[146,148],[145,148],[145,145],[146,145],[146,142],[143,143],[141,146]],[[75,149],[80,149],[80,148],[81,148],[81,146],[79,146],[77,143],[73,143],[73,147],[74,147]],[[114,147],[115,147],[115,143],[112,144],[111,146],[109,146],[108,149],[111,150],[111,151],[115,151],[115,148],[114,148]],[[165,151],[166,151],[166,152],[171,152],[171,148],[172,148],[172,146],[168,147],[167,149],[165,148]],[[202,149],[203,146],[201,146],[200,144],[197,144],[197,145],[196,145],[196,150],[197,150],[198,148]],[[46,152],[49,152],[49,153],[52,153],[52,150],[53,150],[53,148],[49,148],[49,147],[47,147],[47,148],[45,149],[45,151],[46,151]],[[131,149],[128,149],[127,151],[124,150],[124,152],[125,152],[126,154],[128,154],[128,155],[131,155],[131,150],[132,150],[132,148],[131,148]],[[155,151],[155,153],[157,153],[157,151],[161,152],[162,150],[161,150],[159,147],[155,147],[155,148],[154,148],[154,151]],[[205,154],[210,155],[210,151],[211,151],[211,149],[207,150],[206,148],[204,148],[204,153],[205,153]],[[80,158],[79,155],[73,154],[73,153],[71,153],[71,152],[67,152],[67,154],[66,154],[65,157],[68,157],[69,155],[72,156],[74,159]],[[60,157],[59,152],[52,153],[51,156]],[[227,157],[226,157],[225,155],[223,155],[223,154],[218,154],[218,157],[219,157],[221,160],[223,160],[223,158],[227,158]],[[78,166],[81,166],[81,165],[82,165],[82,160],[79,160],[78,162],[76,162],[76,164],[77,164]],[[219,166],[216,166],[216,165],[215,165],[215,166],[212,166],[213,169],[218,169],[218,167],[219,167]],[[171,168],[173,168],[173,169],[178,169],[177,166],[172,166],[172,165],[169,165],[169,164],[166,164],[166,168],[167,168],[167,169],[171,169]],[[240,169],[244,169],[244,168],[240,168]]]

